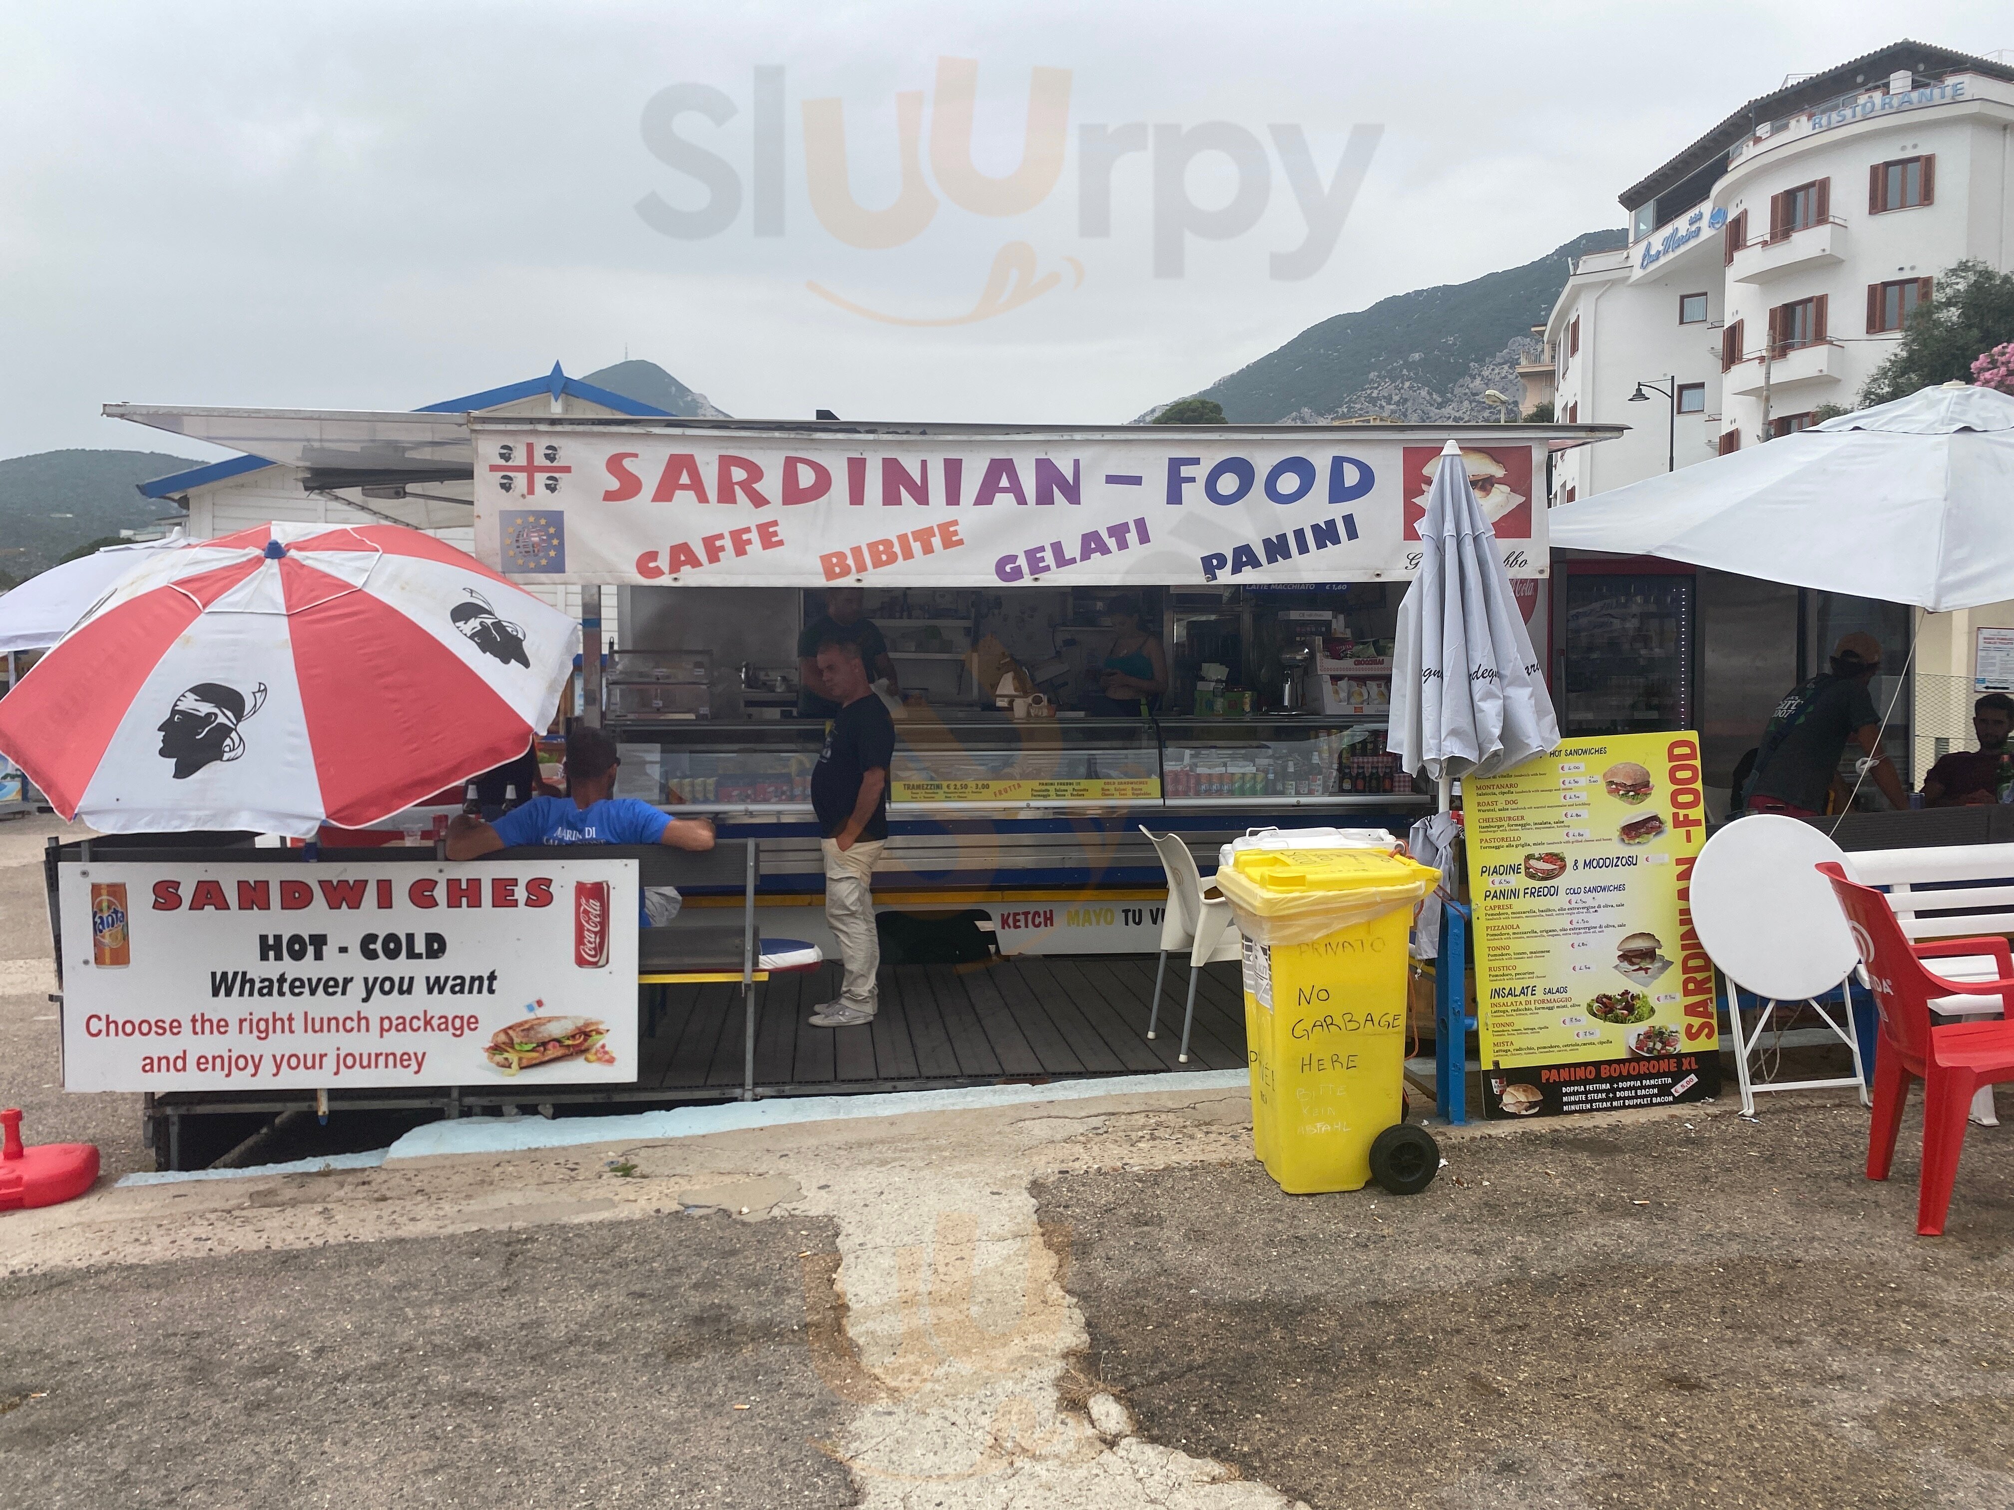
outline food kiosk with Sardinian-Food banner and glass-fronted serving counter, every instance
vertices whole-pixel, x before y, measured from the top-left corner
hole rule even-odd
[[[1555,447],[1595,427],[997,427],[473,417],[475,554],[614,588],[622,791],[765,834],[761,898],[824,938],[800,634],[858,588],[898,697],[882,910],[981,906],[1001,952],[1152,952],[1142,827],[1404,832],[1398,604],[1460,437],[1535,636]],[[1098,717],[1118,598],[1162,644]]]

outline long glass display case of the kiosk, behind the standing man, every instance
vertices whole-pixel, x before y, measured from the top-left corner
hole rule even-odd
[[[616,795],[719,809],[804,809],[824,725],[667,723],[618,731]],[[910,815],[1001,807],[1394,803],[1412,781],[1386,729],[1349,717],[1011,719],[910,709],[890,801]]]

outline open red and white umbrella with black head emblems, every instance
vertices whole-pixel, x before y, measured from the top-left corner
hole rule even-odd
[[[113,834],[363,827],[526,751],[574,622],[399,525],[147,552],[0,699],[0,751]]]

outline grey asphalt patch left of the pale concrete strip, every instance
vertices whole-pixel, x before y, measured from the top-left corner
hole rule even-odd
[[[852,1504],[808,1248],[651,1214],[0,1280],[0,1502]]]

